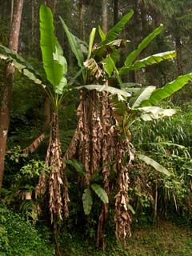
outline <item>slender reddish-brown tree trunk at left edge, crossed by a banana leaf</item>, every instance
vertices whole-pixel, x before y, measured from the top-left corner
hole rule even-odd
[[[18,36],[22,18],[23,0],[14,2],[13,21],[10,26],[10,50],[18,52]],[[6,138],[10,126],[10,105],[11,94],[14,81],[14,65],[8,64],[6,67],[5,82],[2,90],[2,106],[0,110],[0,189],[5,166]]]

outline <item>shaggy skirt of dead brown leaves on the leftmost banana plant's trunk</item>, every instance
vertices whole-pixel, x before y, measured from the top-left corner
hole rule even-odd
[[[69,216],[68,202],[70,200],[68,197],[66,175],[63,172],[57,112],[54,112],[52,118],[50,142],[46,152],[46,170],[40,176],[36,189],[37,194],[45,194],[47,186],[49,187],[50,195],[49,208],[51,222],[54,222],[54,219],[62,220],[62,208],[64,208],[64,215],[67,218]]]

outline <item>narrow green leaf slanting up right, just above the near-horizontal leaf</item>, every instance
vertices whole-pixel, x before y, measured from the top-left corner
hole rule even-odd
[[[163,26],[160,25],[152,33],[150,33],[146,38],[142,40],[142,42],[138,45],[138,48],[134,51],[132,51],[127,57],[126,61],[124,62],[125,66],[131,66],[135,60],[135,58],[138,57],[139,54],[141,54],[142,50],[146,48],[150,44],[151,41],[154,40],[154,38],[162,32]]]

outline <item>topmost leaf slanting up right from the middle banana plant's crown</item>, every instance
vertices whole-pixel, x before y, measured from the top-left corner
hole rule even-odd
[[[130,20],[130,18],[133,16],[134,10],[130,10],[130,12],[126,15],[124,15],[121,20],[106,34],[106,38],[101,42],[102,45],[114,41],[116,38],[118,38],[118,35],[126,25],[126,23]]]

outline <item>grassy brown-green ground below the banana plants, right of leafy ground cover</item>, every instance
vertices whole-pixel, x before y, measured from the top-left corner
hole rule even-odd
[[[191,256],[192,230],[171,222],[159,222],[157,227],[135,228],[125,250],[114,240],[106,252],[95,249],[81,237],[69,237],[61,246],[65,256]],[[64,249],[65,248],[65,249]]]

